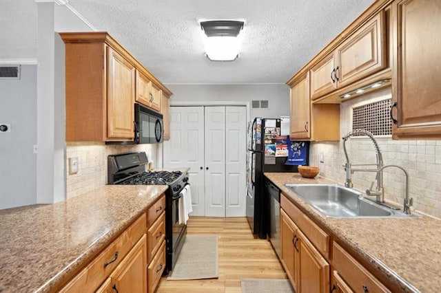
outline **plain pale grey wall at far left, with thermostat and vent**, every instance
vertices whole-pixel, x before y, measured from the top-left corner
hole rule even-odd
[[[22,65],[19,80],[0,79],[0,208],[37,202],[37,66]]]

